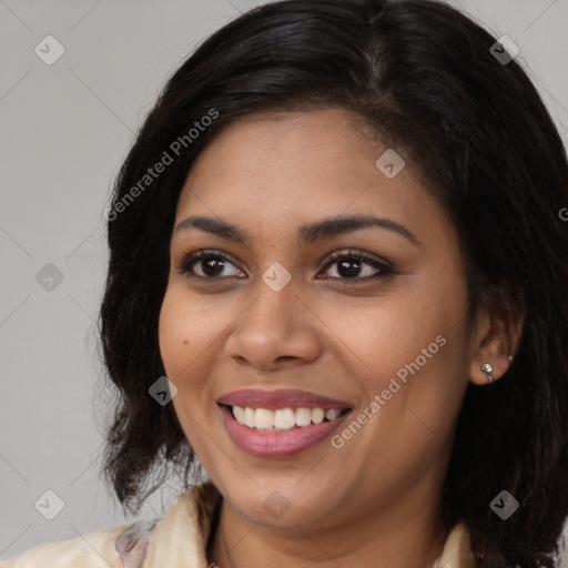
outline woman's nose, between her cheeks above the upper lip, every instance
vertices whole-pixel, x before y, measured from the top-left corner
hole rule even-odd
[[[261,371],[315,361],[322,351],[317,318],[298,295],[294,280],[280,292],[262,280],[227,336],[227,356]]]

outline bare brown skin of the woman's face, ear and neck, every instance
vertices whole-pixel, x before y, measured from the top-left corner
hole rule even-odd
[[[440,490],[465,389],[487,383],[486,361],[498,379],[515,342],[489,316],[471,332],[456,231],[408,160],[394,179],[375,166],[387,148],[344,110],[247,115],[205,148],[181,192],[174,226],[205,215],[250,236],[245,245],[174,231],[160,316],[176,415],[223,495],[209,550],[221,568],[424,568],[442,552]],[[378,227],[298,244],[301,225],[339,214],[386,217],[419,244]],[[209,281],[199,261],[195,276],[176,272],[203,248],[232,261]],[[329,264],[349,250],[386,260],[394,274],[349,284]],[[277,293],[262,280],[275,262],[292,276]],[[365,262],[354,276],[376,272]],[[438,336],[445,345],[341,448],[325,439],[258,458],[225,430],[216,399],[240,388],[305,389],[356,416]],[[280,518],[263,507],[276,490],[290,504]]]

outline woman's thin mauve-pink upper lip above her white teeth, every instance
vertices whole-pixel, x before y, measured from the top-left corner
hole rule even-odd
[[[324,408],[326,410],[332,408],[349,408],[349,405],[342,400],[294,388],[245,388],[242,390],[233,390],[222,395],[217,399],[217,403],[227,406],[266,408],[268,410],[291,407]]]

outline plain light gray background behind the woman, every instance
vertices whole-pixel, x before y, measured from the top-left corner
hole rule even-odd
[[[260,3],[0,0],[0,559],[131,520],[98,476],[110,407],[94,333],[103,210],[165,78]],[[566,141],[568,1],[452,3],[520,47]],[[49,34],[65,50],[51,65],[34,52]],[[59,284],[38,282],[48,263]],[[64,503],[53,520],[34,508],[49,489]],[[166,485],[136,518],[162,515],[178,489]]]

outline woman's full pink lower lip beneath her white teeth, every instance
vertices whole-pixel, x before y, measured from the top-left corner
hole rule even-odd
[[[293,430],[258,432],[239,424],[227,406],[220,405],[229,436],[243,452],[255,457],[285,457],[310,449],[344,422],[351,410],[335,420],[303,426]]]

